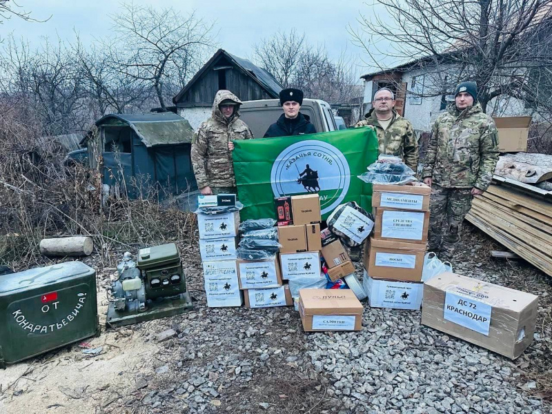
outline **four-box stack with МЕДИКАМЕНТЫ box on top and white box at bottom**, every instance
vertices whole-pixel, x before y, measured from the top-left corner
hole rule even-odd
[[[431,188],[422,183],[373,186],[374,236],[364,246],[370,306],[419,309]]]

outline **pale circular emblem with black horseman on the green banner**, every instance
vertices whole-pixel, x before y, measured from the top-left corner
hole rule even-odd
[[[350,182],[351,170],[342,152],[331,144],[313,139],[286,147],[270,171],[275,197],[318,193],[322,214],[341,204]]]

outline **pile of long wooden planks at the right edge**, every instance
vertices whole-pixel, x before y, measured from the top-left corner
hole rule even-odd
[[[491,185],[473,199],[466,219],[552,276],[552,203]]]

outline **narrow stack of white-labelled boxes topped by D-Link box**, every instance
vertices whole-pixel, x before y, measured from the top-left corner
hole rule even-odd
[[[201,196],[202,206],[228,206],[236,203],[235,195]],[[242,306],[239,290],[236,246],[239,211],[215,215],[198,213],[199,251],[203,262],[207,306]]]

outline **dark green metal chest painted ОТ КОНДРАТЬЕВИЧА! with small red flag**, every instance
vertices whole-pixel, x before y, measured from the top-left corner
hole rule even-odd
[[[0,276],[0,368],[99,335],[96,272],[66,262]]]

